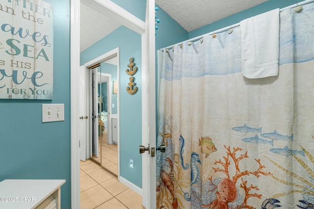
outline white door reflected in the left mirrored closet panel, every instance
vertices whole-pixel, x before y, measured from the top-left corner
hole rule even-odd
[[[97,71],[98,68],[94,68],[91,70],[92,76],[92,88],[91,88],[91,96],[92,99],[90,100],[92,102],[92,128],[93,130],[91,134],[91,158],[93,157],[93,154],[98,158],[99,156],[99,140],[98,140],[98,106],[99,106],[99,99],[98,99],[98,79],[97,79]]]

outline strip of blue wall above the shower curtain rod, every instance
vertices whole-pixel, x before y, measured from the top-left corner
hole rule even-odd
[[[208,24],[204,27],[201,27],[199,29],[190,31],[188,33],[188,39],[192,39],[194,37],[198,37],[200,35],[212,32],[214,30],[219,30],[221,28],[240,23],[240,21],[245,20],[247,18],[262,14],[264,12],[270,11],[272,9],[276,8],[284,8],[286,6],[290,6],[292,4],[301,2],[303,0],[268,0],[264,3],[261,3],[255,7],[252,7],[250,9],[244,10],[242,12],[239,12],[237,14],[231,15],[227,18],[224,18],[220,21]]]

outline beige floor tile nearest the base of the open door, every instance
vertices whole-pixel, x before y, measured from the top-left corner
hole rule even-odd
[[[142,209],[142,197],[130,188],[118,194],[116,198],[129,209]]]

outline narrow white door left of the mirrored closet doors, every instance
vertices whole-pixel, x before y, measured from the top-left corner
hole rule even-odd
[[[86,79],[85,67],[80,66],[78,70],[78,130],[79,130],[79,138],[78,138],[78,147],[79,147],[79,160],[86,161]]]

